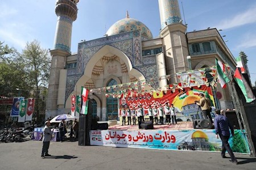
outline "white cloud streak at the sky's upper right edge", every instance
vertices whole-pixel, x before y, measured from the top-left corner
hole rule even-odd
[[[255,23],[256,22],[256,6],[249,10],[233,16],[232,18],[222,20],[216,28],[229,29],[239,27],[241,25]]]

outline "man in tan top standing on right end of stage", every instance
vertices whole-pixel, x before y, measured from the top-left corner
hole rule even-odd
[[[204,94],[199,94],[199,97],[201,99],[199,100],[199,102],[196,101],[196,104],[201,107],[201,111],[203,113],[203,117],[205,119],[209,119],[210,122],[212,122],[212,124],[213,124],[212,116],[210,115],[210,99],[205,98]]]

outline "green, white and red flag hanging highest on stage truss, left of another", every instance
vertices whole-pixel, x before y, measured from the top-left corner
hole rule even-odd
[[[222,63],[221,61],[218,61],[217,58],[215,59],[215,62],[216,62],[216,67],[217,67],[218,79],[220,81],[221,87],[225,88],[226,83],[229,82],[229,78],[225,74],[226,67],[225,67],[224,63]]]

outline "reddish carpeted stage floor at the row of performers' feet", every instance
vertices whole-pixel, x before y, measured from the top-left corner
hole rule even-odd
[[[150,130],[192,130],[193,129],[193,122],[177,122],[177,124],[171,125],[154,125],[154,129]],[[114,125],[109,126],[109,130],[129,130],[129,131],[136,131],[136,130],[144,130],[139,129],[138,125]]]

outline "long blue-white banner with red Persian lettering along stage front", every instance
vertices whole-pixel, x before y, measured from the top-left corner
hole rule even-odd
[[[249,154],[249,146],[241,130],[229,139],[233,152]],[[164,150],[221,151],[222,142],[215,130],[92,130],[90,145],[151,148]]]

